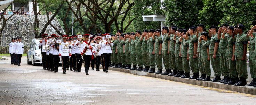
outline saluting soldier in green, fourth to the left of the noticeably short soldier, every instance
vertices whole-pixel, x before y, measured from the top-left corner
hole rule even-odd
[[[177,29],[176,33],[174,34],[173,40],[176,41],[175,44],[175,64],[177,67],[177,70],[179,71],[176,75],[174,75],[175,77],[180,77],[181,75],[184,74],[184,70],[182,68],[182,66],[180,64],[182,64],[182,58],[181,58],[181,42],[179,41],[179,39],[181,38],[182,35],[182,30],[181,29]],[[177,36],[177,37],[176,37]]]

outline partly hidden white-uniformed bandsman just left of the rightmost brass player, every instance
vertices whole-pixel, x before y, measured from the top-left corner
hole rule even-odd
[[[96,43],[94,44],[95,47],[95,54],[97,54],[97,56],[95,57],[95,66],[96,66],[96,71],[99,71],[99,64],[101,62],[101,54],[100,54],[100,50],[101,50],[101,37],[97,37],[95,38]],[[97,52],[99,51],[99,52]]]

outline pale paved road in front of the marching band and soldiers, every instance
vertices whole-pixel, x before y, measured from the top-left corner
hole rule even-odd
[[[0,60],[0,105],[255,105],[256,102],[255,95],[116,71],[89,70],[89,75],[84,71],[54,73],[42,70],[41,66],[27,65],[26,59],[22,57],[21,66]]]

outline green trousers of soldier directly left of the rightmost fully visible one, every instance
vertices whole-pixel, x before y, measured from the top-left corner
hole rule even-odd
[[[231,56],[227,56],[227,67],[229,69],[229,77],[231,78],[237,78],[237,68],[235,68],[235,60],[232,61],[232,55]]]

